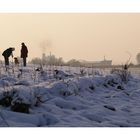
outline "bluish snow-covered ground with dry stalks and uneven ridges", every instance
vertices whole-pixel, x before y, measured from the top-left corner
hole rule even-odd
[[[140,77],[127,80],[93,69],[1,67],[0,126],[140,127]]]

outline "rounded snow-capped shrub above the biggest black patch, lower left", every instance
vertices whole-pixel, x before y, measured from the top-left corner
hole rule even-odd
[[[39,106],[46,101],[44,94],[35,92],[32,88],[19,86],[16,90],[11,102],[13,111],[29,113],[30,107]]]

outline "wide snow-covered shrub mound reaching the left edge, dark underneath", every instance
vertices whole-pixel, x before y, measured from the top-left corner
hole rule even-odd
[[[0,105],[10,106],[12,111],[29,113],[29,108],[42,103],[40,94],[34,94],[30,88],[19,86],[1,91]]]

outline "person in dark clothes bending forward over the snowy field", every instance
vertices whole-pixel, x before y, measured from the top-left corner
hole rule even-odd
[[[5,60],[5,66],[9,65],[9,57],[10,56],[13,57],[14,50],[15,50],[15,48],[8,48],[2,53],[2,55],[4,56],[4,60]]]

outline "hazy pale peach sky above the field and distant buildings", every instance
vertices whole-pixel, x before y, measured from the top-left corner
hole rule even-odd
[[[21,42],[29,49],[29,59],[51,51],[65,61],[112,59],[122,64],[140,52],[140,14],[0,14],[0,52]],[[43,43],[48,42],[46,50]],[[46,43],[45,43],[46,44]],[[3,59],[0,55],[0,59]]]

